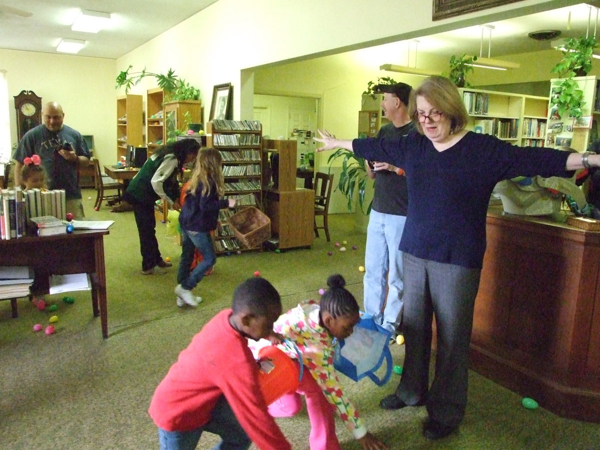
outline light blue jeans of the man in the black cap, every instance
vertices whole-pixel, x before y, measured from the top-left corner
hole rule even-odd
[[[398,250],[406,217],[371,210],[365,248],[364,307],[394,335],[402,319],[404,285]],[[389,290],[388,290],[389,285]]]

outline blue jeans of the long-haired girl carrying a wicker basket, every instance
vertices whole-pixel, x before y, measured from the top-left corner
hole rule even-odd
[[[194,260],[194,249],[196,248],[202,253],[202,261],[191,270],[190,266]],[[216,262],[217,256],[212,247],[210,233],[181,230],[181,259],[177,272],[177,282],[181,284],[181,287],[187,290],[194,289],[196,284],[202,281],[206,271]]]

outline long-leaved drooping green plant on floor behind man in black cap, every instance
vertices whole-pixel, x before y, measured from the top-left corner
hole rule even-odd
[[[367,188],[367,161],[364,158],[358,157],[354,152],[347,151],[346,149],[337,149],[333,154],[329,156],[327,163],[329,164],[329,170],[331,170],[331,164],[337,158],[343,158],[341,164],[340,181],[335,188],[340,190],[344,197],[348,200],[348,211],[352,211],[352,206],[355,201],[355,190],[358,187],[358,203],[361,206],[361,211],[368,215],[371,212],[371,204],[367,207],[367,212],[364,211],[365,202],[365,190]]]

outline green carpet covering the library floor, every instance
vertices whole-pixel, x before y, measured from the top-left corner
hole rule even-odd
[[[34,333],[50,313],[19,299],[19,318],[12,319],[10,302],[0,301],[0,436],[2,449],[153,449],[157,430],[148,403],[158,382],[191,337],[217,311],[229,307],[233,288],[255,271],[281,293],[284,309],[307,298],[318,298],[328,275],[344,275],[347,287],[362,304],[365,235],[354,230],[350,215],[330,216],[332,242],[317,238],[310,250],[247,252],[219,257],[213,274],[194,291],[204,298],[197,308],[178,308],[173,287],[179,247],[157,224],[163,257],[173,268],[166,275],[140,274],[140,255],[133,213],[92,209],[95,192],[85,192],[91,220],[114,220],[104,239],[107,267],[109,338],[103,340],[100,319],[92,317],[89,292],[47,296],[58,305],[56,334]],[[348,242],[344,253],[335,241]],[[358,247],[352,250],[352,245]],[[328,251],[332,255],[328,256]],[[394,344],[395,364],[404,347]],[[400,411],[379,409],[380,398],[394,391],[398,376],[381,388],[370,380],[354,383],[340,376],[346,394],[356,404],[368,429],[392,449],[598,449],[598,424],[562,419],[538,408],[521,407],[521,397],[474,372],[469,374],[469,403],[458,433],[431,442],[421,435],[424,407]],[[305,412],[278,419],[294,449],[308,449],[310,424]],[[341,421],[337,431],[344,449],[358,450]],[[204,434],[199,449],[217,440]],[[253,447],[254,448],[254,447]]]

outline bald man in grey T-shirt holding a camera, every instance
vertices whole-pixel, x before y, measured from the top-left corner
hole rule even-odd
[[[81,219],[85,215],[77,172],[79,166],[89,164],[88,145],[79,131],[62,124],[65,113],[55,101],[44,104],[41,116],[43,124],[25,133],[14,151],[14,185],[21,185],[23,160],[34,154],[40,155],[41,165],[46,170],[47,187],[64,189],[67,212]]]

